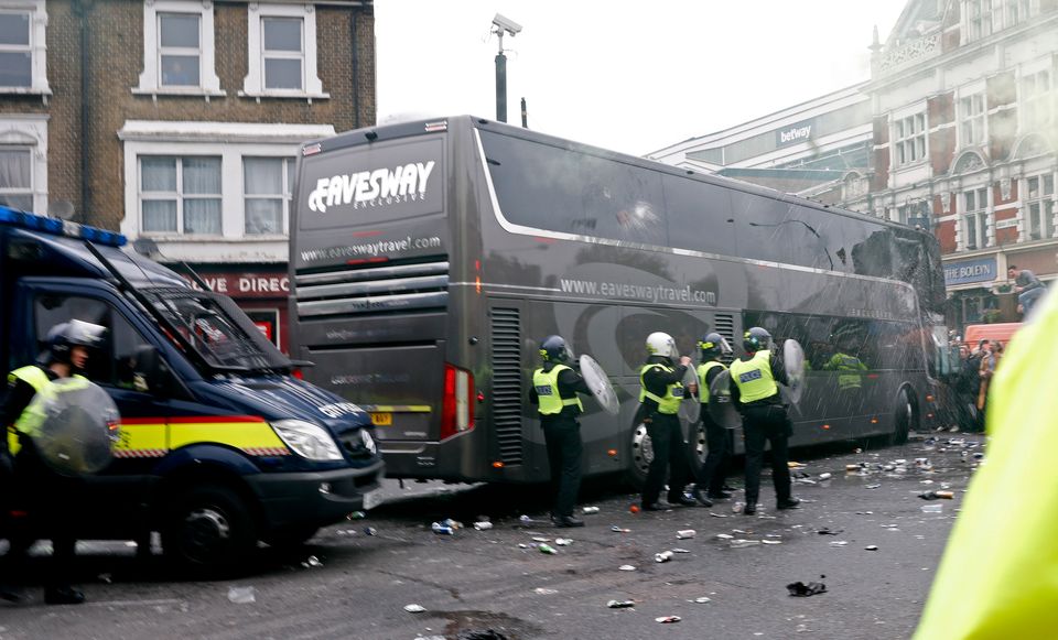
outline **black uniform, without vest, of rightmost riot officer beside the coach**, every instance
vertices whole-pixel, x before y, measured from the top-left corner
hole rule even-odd
[[[751,356],[739,358],[748,361]],[[773,350],[769,368],[777,383],[788,384],[782,356]],[[771,484],[775,487],[777,507],[796,507],[799,500],[792,498],[790,480],[789,446],[787,441],[794,435],[794,423],[786,412],[782,397],[778,393],[767,398],[743,403],[735,377],[731,378],[731,398],[742,413],[742,426],[746,444],[746,512],[752,513],[760,497],[760,469],[764,466],[765,444],[771,443]]]

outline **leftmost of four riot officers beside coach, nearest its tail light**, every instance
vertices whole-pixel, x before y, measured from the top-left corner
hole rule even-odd
[[[532,372],[529,399],[538,405],[548,446],[554,496],[551,518],[555,527],[584,527],[584,521],[573,516],[581,488],[583,452],[581,423],[576,416],[584,406],[576,393],[591,393],[591,389],[568,365],[573,361],[573,354],[561,336],[548,336],[540,343],[540,359],[543,366]]]

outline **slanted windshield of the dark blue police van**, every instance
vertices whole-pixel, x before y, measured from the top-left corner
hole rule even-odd
[[[226,308],[224,299],[180,289],[144,293],[209,367],[261,370],[290,366],[285,356],[252,334],[256,327],[248,318],[235,317],[241,312]]]

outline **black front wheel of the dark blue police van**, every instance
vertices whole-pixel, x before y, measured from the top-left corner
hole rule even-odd
[[[162,531],[162,549],[179,568],[216,574],[237,568],[257,546],[253,519],[241,497],[205,485],[179,496]]]

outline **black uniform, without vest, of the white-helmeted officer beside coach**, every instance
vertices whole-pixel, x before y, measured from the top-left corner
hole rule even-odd
[[[671,360],[663,356],[647,358],[647,365],[655,364],[669,367],[671,371],[652,367],[643,375],[644,387],[657,397],[665,397],[669,384],[683,380],[687,367],[672,365]],[[658,411],[657,401],[644,398],[637,413],[637,421],[639,420],[647,425],[647,434],[650,436],[650,445],[654,449],[654,459],[650,460],[647,479],[643,486],[643,508],[650,510],[657,506],[661,488],[665,486],[666,469],[669,470],[669,502],[693,505],[693,500],[683,496],[683,487],[691,481],[692,473],[687,459],[683,427],[680,425],[679,414],[661,413]]]

